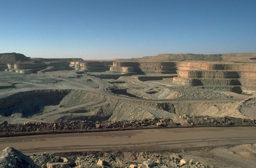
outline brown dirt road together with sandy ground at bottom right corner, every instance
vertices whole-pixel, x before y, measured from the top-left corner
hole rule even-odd
[[[248,144],[248,145],[241,145]],[[217,167],[256,166],[255,127],[148,129],[0,138],[24,154],[71,151],[176,151]]]

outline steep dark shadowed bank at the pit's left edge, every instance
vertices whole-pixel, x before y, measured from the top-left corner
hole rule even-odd
[[[56,105],[70,90],[34,90],[18,92],[0,99],[0,116],[29,117],[46,105]]]

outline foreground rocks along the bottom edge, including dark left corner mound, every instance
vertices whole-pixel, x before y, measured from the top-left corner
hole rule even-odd
[[[186,160],[177,153],[165,152],[129,152],[101,151],[80,153],[43,153],[27,156],[8,147],[0,152],[0,167],[8,168],[69,168],[69,167],[131,167],[131,168],[165,168],[165,167],[211,167],[208,164]]]

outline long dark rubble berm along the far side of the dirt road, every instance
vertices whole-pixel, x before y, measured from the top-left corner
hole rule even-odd
[[[70,122],[52,122],[52,123],[32,123],[10,124],[3,122],[0,124],[0,136],[14,135],[15,133],[34,133],[42,134],[51,131],[104,131],[117,129],[141,129],[153,127],[193,127],[193,126],[255,126],[256,121],[253,119],[240,119],[232,117],[213,118],[209,116],[180,116],[178,118],[166,119],[142,119],[131,121],[116,121],[116,122],[92,122],[92,121],[70,121]]]

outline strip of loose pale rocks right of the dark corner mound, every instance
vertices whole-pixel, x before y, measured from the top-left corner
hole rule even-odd
[[[66,156],[65,156],[66,155]],[[67,156],[68,155],[68,156]],[[172,152],[129,152],[129,151],[104,151],[51,154],[31,156],[34,163],[40,167],[137,167],[137,168],[165,168],[165,167],[211,167],[208,164],[186,160],[177,153]],[[69,160],[69,161],[67,161]],[[54,165],[54,166],[53,166]]]

